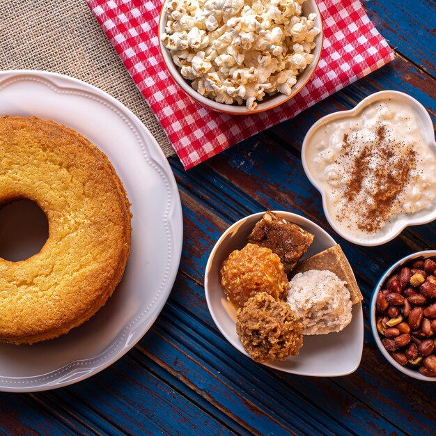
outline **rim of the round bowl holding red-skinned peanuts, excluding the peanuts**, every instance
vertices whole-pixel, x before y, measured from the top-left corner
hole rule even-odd
[[[380,291],[382,284],[392,274],[392,272],[394,272],[394,270],[400,268],[401,265],[405,263],[411,262],[412,260],[419,259],[419,258],[426,259],[431,257],[436,257],[436,250],[418,251],[417,253],[410,254],[409,256],[405,256],[404,258],[398,260],[398,262],[394,263],[394,265],[389,267],[384,272],[378,283],[375,285],[373,291],[373,297],[371,297],[371,310],[369,314],[370,322],[371,322],[371,330],[373,331],[375,343],[377,344],[377,347],[382,352],[382,355],[384,355],[387,361],[389,361],[389,364],[397,368],[398,371],[401,371],[403,374],[409,375],[409,377],[416,378],[417,380],[423,380],[424,382],[436,382],[436,377],[426,377],[425,375],[422,375],[417,370],[413,370],[412,368],[406,368],[405,366],[401,366],[400,364],[398,364],[398,362],[396,362],[391,357],[391,355],[389,355],[389,352],[387,352],[386,348],[384,348],[382,344],[382,340],[380,339],[380,334],[377,331],[377,325],[375,322],[375,309],[376,309],[375,300],[377,299],[377,294]]]

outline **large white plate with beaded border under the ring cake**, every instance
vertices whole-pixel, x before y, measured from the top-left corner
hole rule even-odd
[[[0,114],[71,127],[111,160],[132,203],[132,249],[114,295],[81,327],[34,345],[0,345],[0,390],[42,391],[83,380],[123,356],[162,310],[182,249],[182,210],[171,168],[123,104],[51,72],[0,72]]]

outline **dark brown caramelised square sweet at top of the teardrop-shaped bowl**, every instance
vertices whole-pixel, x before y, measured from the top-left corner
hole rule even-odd
[[[254,226],[248,240],[272,249],[289,274],[313,242],[313,235],[268,210]]]

